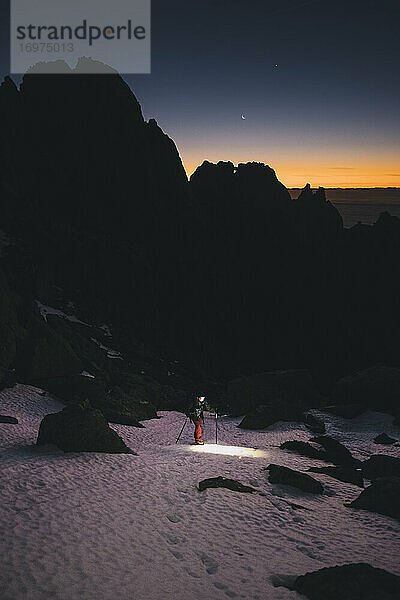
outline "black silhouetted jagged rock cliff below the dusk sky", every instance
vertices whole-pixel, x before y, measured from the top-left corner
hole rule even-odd
[[[189,183],[117,75],[7,79],[0,109],[0,229],[18,240],[2,262],[21,298],[61,290],[216,375],[399,360],[379,294],[398,297],[397,220],[344,230],[322,188],[292,201],[263,163],[206,161]]]

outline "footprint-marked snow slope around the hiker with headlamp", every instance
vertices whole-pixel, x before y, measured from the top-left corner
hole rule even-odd
[[[326,490],[314,498],[268,483],[262,468],[271,462],[321,465],[279,449],[309,439],[299,424],[247,432],[222,418],[221,445],[260,452],[214,454],[193,451],[189,426],[176,445],[184,416],[165,412],[145,429],[114,426],[138,456],[63,454],[34,446],[42,417],[62,408],[39,392],[19,385],[0,393],[0,413],[19,419],[0,424],[2,600],[296,600],[272,581],[357,561],[400,575],[400,525],[343,506],[359,488],[313,474]],[[372,443],[382,431],[399,437],[386,415],[323,417],[359,458],[400,455]],[[206,441],[214,435],[210,417]],[[197,490],[218,475],[260,493]]]

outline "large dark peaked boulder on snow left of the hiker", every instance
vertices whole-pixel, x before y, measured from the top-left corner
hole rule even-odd
[[[37,444],[54,444],[64,452],[135,454],[88,401],[46,415],[40,423]]]

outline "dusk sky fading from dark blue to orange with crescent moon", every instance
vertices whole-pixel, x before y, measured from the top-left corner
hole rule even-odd
[[[399,0],[153,0],[152,74],[125,78],[188,175],[257,160],[289,187],[400,186],[399,23]]]

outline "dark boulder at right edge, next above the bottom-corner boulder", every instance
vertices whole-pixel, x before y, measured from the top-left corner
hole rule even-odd
[[[346,504],[400,521],[400,477],[376,479],[358,498]]]

